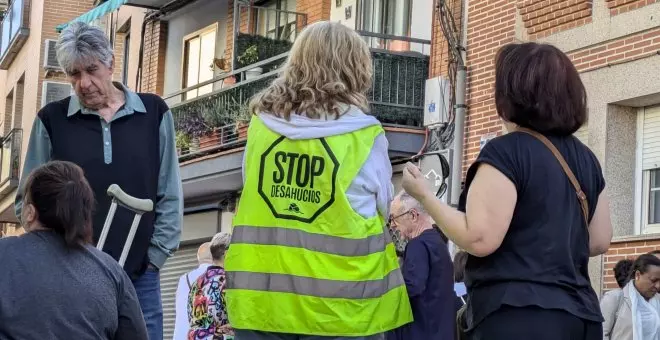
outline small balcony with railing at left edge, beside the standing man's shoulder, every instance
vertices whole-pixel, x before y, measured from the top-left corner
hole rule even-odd
[[[21,146],[23,130],[14,129],[0,142],[0,196],[4,196],[18,186],[21,167]]]

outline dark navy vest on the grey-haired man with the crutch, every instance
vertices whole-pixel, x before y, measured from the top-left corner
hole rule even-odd
[[[106,164],[103,155],[103,131],[100,117],[77,113],[67,117],[71,97],[53,102],[38,114],[52,145],[53,160],[78,164],[85,171],[96,198],[94,210],[94,242],[103,229],[111,200],[106,191],[118,184],[126,193],[137,198],[148,198],[156,203],[160,170],[160,122],[167,105],[155,95],[139,94],[147,113],[134,112],[112,121],[112,162]],[[118,207],[104,245],[104,251],[116,260],[135,215]],[[136,278],[144,273],[149,258],[147,251],[154,231],[154,213],[144,214],[124,269]]]

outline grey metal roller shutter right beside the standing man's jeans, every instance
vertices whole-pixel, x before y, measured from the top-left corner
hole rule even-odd
[[[170,340],[174,336],[174,318],[176,315],[176,288],[181,275],[197,268],[197,248],[201,243],[181,246],[174,256],[169,258],[160,271],[160,293],[163,300],[163,336]]]

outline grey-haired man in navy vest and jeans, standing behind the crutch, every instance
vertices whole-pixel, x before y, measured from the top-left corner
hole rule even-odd
[[[70,161],[85,171],[96,198],[95,242],[110,207],[106,190],[111,184],[151,199],[154,212],[142,216],[124,270],[137,292],[149,338],[160,340],[159,269],[178,248],[183,220],[172,113],[158,96],[138,94],[112,81],[113,49],[101,29],[71,23],[61,33],[56,50],[75,95],[49,103],[34,120],[16,215],[21,216],[27,175],[50,160]],[[103,249],[115,259],[132,220],[133,213],[117,210]]]

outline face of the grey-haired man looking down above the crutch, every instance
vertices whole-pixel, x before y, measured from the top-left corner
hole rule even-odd
[[[97,109],[107,103],[113,86],[113,65],[108,67],[98,60],[75,65],[69,77],[83,106]]]

